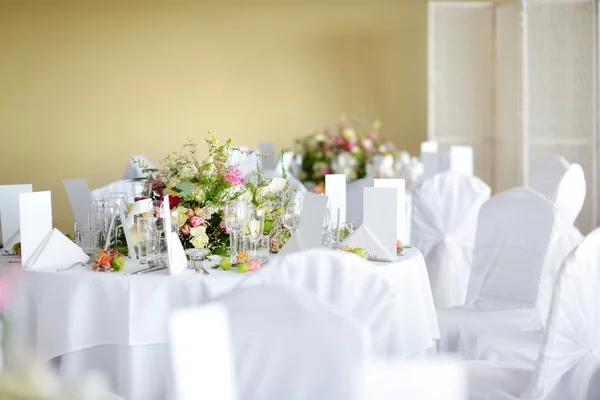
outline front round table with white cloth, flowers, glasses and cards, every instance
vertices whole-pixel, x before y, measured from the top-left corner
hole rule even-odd
[[[439,329],[427,270],[419,250],[399,240],[404,182],[365,188],[357,226],[346,219],[345,175],[327,175],[325,193],[296,191],[285,176],[243,176],[229,140],[209,133],[206,144],[203,160],[187,144],[159,169],[140,161],[147,175],[131,182],[133,203],[125,192],[92,200],[85,180],[65,181],[73,238],[52,227],[49,192],[19,195],[21,257],[0,258],[22,265],[6,310],[15,349],[34,349],[66,375],[100,369],[127,399],[164,398],[157,366],[168,363],[174,311],[261,285],[288,254],[328,248],[369,260],[388,281],[403,304],[398,355],[431,353]]]

